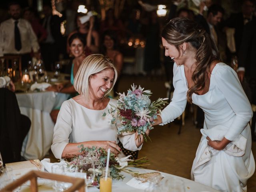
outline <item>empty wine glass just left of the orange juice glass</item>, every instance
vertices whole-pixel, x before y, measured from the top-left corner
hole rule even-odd
[[[95,166],[91,158],[82,157],[76,163],[76,176],[84,178],[86,184],[86,192],[88,192],[88,185],[93,184],[95,179]]]

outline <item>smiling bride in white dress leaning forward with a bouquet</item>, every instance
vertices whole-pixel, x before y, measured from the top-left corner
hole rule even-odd
[[[170,20],[162,43],[175,62],[175,90],[155,124],[172,122],[187,101],[198,105],[205,120],[191,179],[222,192],[246,191],[255,170],[248,124],[252,109],[236,72],[218,60],[216,45],[193,21]]]

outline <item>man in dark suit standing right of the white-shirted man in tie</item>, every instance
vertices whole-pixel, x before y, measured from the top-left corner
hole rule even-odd
[[[52,7],[48,4],[44,4],[43,12],[42,26],[46,29],[48,35],[41,44],[41,52],[46,70],[53,70],[54,63],[58,61],[63,45],[63,37],[60,32],[60,23],[63,18],[52,15]]]

